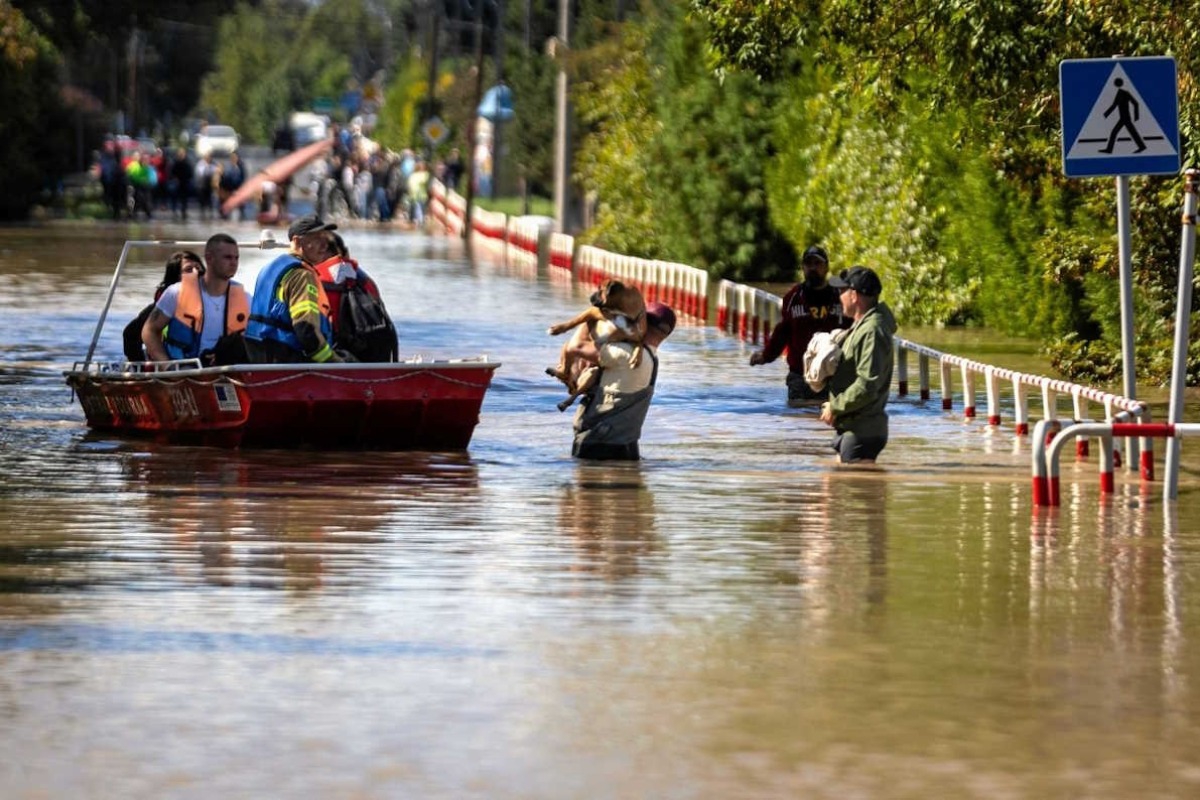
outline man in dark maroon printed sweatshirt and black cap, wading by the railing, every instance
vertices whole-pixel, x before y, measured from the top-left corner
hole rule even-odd
[[[812,391],[804,380],[804,351],[814,333],[850,327],[842,315],[838,290],[826,282],[829,257],[823,247],[812,246],[800,259],[804,279],[784,295],[780,320],[763,349],[750,356],[750,366],[770,363],[787,350],[787,404],[792,408],[817,405],[829,392]]]

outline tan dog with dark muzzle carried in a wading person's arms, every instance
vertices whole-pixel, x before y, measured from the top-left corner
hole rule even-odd
[[[546,373],[566,384],[568,397],[558,404],[559,410],[570,408],[575,398],[590,389],[598,369],[590,369],[581,353],[589,344],[601,347],[608,342],[632,342],[634,353],[629,366],[636,367],[642,360],[642,337],[646,336],[646,299],[636,287],[620,281],[605,281],[592,294],[592,305],[577,317],[551,325],[547,333],[558,336],[575,329],[575,333],[563,345],[557,367],[547,367]]]

